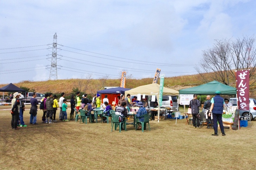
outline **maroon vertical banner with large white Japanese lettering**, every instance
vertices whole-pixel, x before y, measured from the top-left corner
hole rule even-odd
[[[249,78],[249,69],[236,71],[237,106],[240,110],[249,110]]]

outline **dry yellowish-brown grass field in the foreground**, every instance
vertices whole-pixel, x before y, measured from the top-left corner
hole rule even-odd
[[[12,130],[9,109],[0,106],[0,169],[255,169],[256,120],[225,128],[226,136],[186,119],[150,121],[143,133],[128,125],[119,133],[106,123],[41,123],[40,110],[38,125],[30,125],[26,105],[28,126]]]

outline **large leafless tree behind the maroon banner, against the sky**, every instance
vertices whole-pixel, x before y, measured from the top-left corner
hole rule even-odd
[[[226,85],[235,81],[235,70],[250,69],[250,86],[256,82],[256,48],[254,35],[215,40],[212,48],[203,51],[200,65],[194,67],[203,80],[217,80]]]

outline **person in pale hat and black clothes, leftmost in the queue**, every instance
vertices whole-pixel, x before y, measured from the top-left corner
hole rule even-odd
[[[13,94],[14,96],[14,104],[12,104],[12,110],[10,110],[11,114],[12,114],[12,121],[11,121],[11,126],[13,130],[19,130],[19,128],[17,127],[17,121],[19,119],[19,106],[20,106],[20,101],[19,101],[19,93],[15,92]],[[13,102],[12,102],[13,103]]]

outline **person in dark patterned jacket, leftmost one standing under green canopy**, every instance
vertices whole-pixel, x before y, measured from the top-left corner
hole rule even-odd
[[[193,99],[189,102],[189,108],[191,109],[192,113],[192,123],[194,128],[201,128],[200,126],[200,114],[199,114],[199,107],[200,107],[200,102],[197,100],[197,95],[193,95]]]

